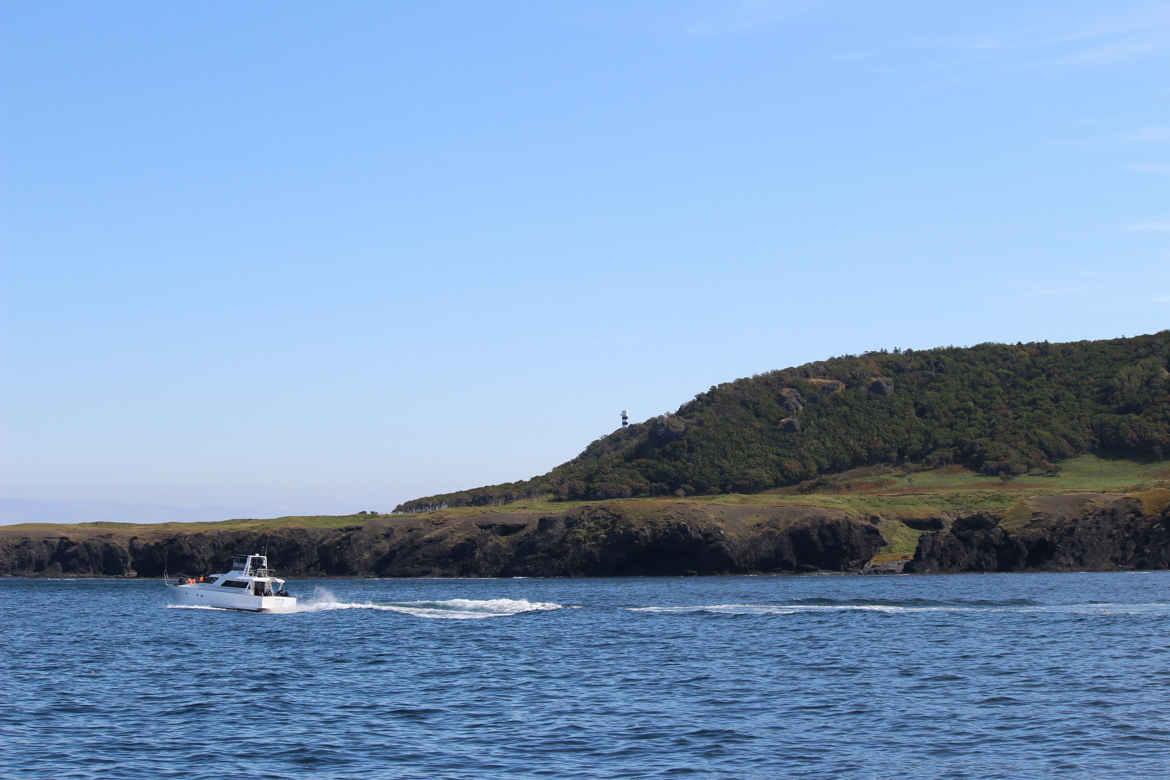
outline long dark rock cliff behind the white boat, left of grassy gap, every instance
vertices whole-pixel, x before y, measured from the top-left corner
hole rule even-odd
[[[837,510],[619,502],[555,515],[432,512],[271,533],[144,527],[138,536],[98,537],[7,529],[0,531],[0,575],[212,574],[227,571],[233,554],[259,552],[266,541],[284,577],[860,572],[883,544],[878,529]]]

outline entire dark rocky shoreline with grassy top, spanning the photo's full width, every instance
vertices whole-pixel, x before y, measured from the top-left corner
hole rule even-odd
[[[378,516],[270,531],[0,527],[0,577],[199,575],[268,545],[282,577],[897,574],[1170,568],[1170,491],[1072,493],[907,520],[913,559],[874,560],[889,518],[819,506],[613,502],[563,512]]]

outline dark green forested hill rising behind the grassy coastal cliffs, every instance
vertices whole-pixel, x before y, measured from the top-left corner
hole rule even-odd
[[[1068,344],[867,352],[737,379],[548,474],[400,504],[755,492],[876,463],[1054,469],[1090,449],[1170,453],[1170,331]]]

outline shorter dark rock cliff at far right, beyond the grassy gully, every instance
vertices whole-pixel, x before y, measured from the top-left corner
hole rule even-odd
[[[1170,509],[1128,496],[1052,496],[1031,518],[972,512],[918,539],[907,572],[1116,571],[1170,567]]]

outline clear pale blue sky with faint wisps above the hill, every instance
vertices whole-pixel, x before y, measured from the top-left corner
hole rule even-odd
[[[1166,2],[2,5],[0,496],[388,510],[1170,326]]]

